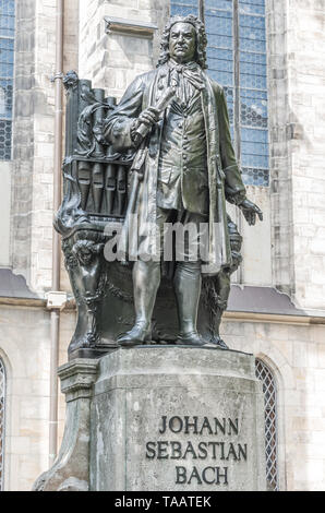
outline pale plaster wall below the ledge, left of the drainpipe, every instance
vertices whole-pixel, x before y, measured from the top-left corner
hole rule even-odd
[[[0,355],[8,377],[4,489],[29,490],[48,460],[49,313],[1,307]]]

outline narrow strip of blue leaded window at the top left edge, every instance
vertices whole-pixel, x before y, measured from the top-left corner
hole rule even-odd
[[[0,0],[0,160],[11,158],[14,0]]]

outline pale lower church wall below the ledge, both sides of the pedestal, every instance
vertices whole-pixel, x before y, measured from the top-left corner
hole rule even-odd
[[[5,489],[29,490],[48,468],[49,313],[1,307],[1,321],[0,353],[9,375]],[[67,361],[74,322],[73,312],[61,314],[60,365]],[[324,490],[325,326],[226,315],[221,336],[231,349],[253,353],[275,374],[279,488]],[[64,413],[60,394],[59,444]]]

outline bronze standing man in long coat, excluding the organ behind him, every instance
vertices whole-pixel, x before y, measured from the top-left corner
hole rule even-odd
[[[173,272],[177,342],[202,346],[206,341],[196,330],[202,273],[216,275],[231,265],[225,200],[238,205],[250,225],[256,215],[263,218],[245,196],[225,93],[205,72],[206,43],[197,17],[172,17],[162,34],[157,69],[137,76],[105,121],[105,138],[117,151],[137,148],[119,242],[120,250],[137,256],[133,266],[135,324],[118,338],[123,346],[151,341],[164,224],[195,226],[194,246],[200,243],[202,226],[208,227],[205,265],[202,259],[193,259],[193,240],[190,254],[188,240]],[[157,237],[161,239],[158,258]]]

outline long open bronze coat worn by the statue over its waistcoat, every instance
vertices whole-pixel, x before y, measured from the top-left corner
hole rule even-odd
[[[169,73],[170,68],[168,64],[164,64],[157,70],[137,76],[128,87],[113,114],[107,118],[105,136],[117,151],[134,147],[131,136],[134,120],[144,109],[155,106],[164,95],[169,86]],[[222,266],[231,265],[226,200],[239,203],[245,198],[245,187],[231,144],[224,90],[204,71],[201,73],[205,83],[201,97],[206,128],[209,188],[209,230],[206,258],[208,265],[203,265],[202,272],[214,275]],[[156,254],[157,177],[164,122],[165,117],[162,116],[141,144],[133,162],[135,172],[132,176],[130,201],[119,250],[134,259],[140,252],[142,254],[149,253],[152,256]],[[143,174],[143,179],[140,179],[139,171]]]

